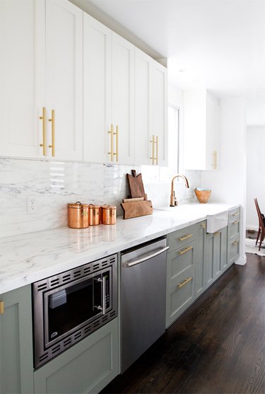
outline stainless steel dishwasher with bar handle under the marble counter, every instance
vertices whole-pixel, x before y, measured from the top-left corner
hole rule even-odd
[[[159,238],[122,253],[122,373],[165,332],[167,249]]]

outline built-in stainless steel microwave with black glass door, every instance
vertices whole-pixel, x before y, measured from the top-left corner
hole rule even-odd
[[[35,368],[116,316],[117,255],[35,282]]]

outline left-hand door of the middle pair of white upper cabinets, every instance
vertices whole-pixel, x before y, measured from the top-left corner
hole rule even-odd
[[[83,15],[83,158],[110,161],[111,30]]]

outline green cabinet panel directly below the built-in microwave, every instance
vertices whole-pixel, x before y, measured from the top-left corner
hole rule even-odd
[[[118,373],[116,318],[37,369],[35,394],[99,393]]]

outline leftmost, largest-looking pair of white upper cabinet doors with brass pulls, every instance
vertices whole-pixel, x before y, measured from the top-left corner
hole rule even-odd
[[[0,154],[82,160],[83,11],[67,0],[0,7]]]

